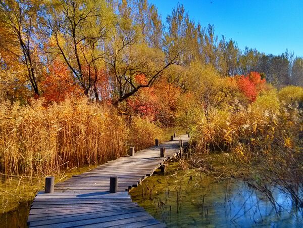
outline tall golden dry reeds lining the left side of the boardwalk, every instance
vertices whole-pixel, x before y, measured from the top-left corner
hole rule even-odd
[[[146,130],[147,129],[147,130]],[[158,127],[133,118],[127,124],[112,106],[86,99],[49,107],[0,104],[0,170],[6,176],[45,175],[125,155],[129,146],[153,144]]]

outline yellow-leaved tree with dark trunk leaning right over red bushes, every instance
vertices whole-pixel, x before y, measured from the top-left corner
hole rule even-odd
[[[141,39],[140,25],[135,23],[126,1],[118,5],[118,11],[119,18],[106,56],[106,63],[113,75],[115,104],[131,97],[140,88],[153,85],[170,65],[176,63],[180,55],[173,43],[168,43],[163,50],[148,47]],[[145,76],[145,82],[135,80],[141,74]]]

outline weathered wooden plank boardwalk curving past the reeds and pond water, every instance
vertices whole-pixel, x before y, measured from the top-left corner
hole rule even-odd
[[[55,191],[38,192],[29,213],[30,227],[166,227],[132,202],[129,190],[180,153],[188,136],[121,157],[55,185]],[[165,157],[160,157],[165,147]],[[109,193],[110,177],[118,177],[118,192]]]

